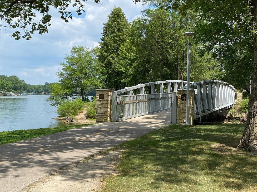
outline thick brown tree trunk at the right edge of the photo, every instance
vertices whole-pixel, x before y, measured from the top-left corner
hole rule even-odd
[[[257,22],[257,0],[252,0],[253,21]],[[254,71],[252,90],[248,104],[248,114],[243,136],[237,149],[250,150],[257,154],[257,35],[253,34]]]

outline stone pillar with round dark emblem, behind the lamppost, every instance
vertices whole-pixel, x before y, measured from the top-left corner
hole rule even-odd
[[[194,91],[195,90],[189,90],[189,123],[191,123],[191,125],[194,124]],[[178,90],[178,125],[183,125],[186,122],[187,100],[182,100],[186,97],[186,93],[186,89]],[[182,94],[184,94],[184,97],[181,99]]]

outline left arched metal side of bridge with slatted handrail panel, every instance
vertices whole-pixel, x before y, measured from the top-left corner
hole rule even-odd
[[[167,84],[167,89],[164,88],[164,83]],[[112,120],[117,121],[117,120],[122,120],[126,118],[140,116],[146,113],[153,113],[160,110],[170,109],[169,104],[170,104],[171,93],[173,91],[178,90],[178,84],[180,84],[180,87],[183,87],[183,85],[185,85],[186,83],[187,81],[181,81],[181,80],[155,81],[155,82],[149,82],[144,84],[138,84],[132,87],[126,87],[124,89],[114,91],[112,93]],[[194,82],[190,82],[190,83],[194,83]],[[172,84],[174,84],[173,88],[172,88]],[[155,85],[159,85],[159,91],[156,91]],[[148,87],[148,86],[150,86],[150,94],[146,94],[145,87]],[[140,94],[136,94],[136,93],[134,94],[133,90],[136,90],[136,89],[140,90],[139,92]],[[122,93],[127,93],[127,95],[125,96],[120,95]],[[159,103],[157,101],[155,102],[155,100],[152,100],[153,98],[146,98],[147,95],[155,98],[158,95],[161,96],[163,93],[167,94],[167,96],[165,96],[166,99],[161,99]],[[120,100],[121,98],[129,99],[133,102],[126,101],[126,104],[125,102],[120,102],[120,101],[118,102],[118,100]],[[124,103],[124,105],[122,103]],[[133,104],[133,103],[140,103],[139,104],[140,106],[137,106],[137,104]],[[150,105],[149,111],[144,111],[144,112],[135,111],[136,108],[144,108],[143,106],[147,106],[147,105]],[[157,105],[161,105],[162,107],[158,108]],[[117,109],[123,111],[122,114],[124,114],[124,117],[119,116]]]

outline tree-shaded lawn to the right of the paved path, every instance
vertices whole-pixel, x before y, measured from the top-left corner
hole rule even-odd
[[[172,125],[128,141],[103,191],[257,191],[257,158],[235,151],[245,124]]]

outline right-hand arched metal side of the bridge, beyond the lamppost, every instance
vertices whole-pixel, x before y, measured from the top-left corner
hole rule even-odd
[[[235,104],[235,88],[228,83],[218,80],[200,81],[190,84],[190,89],[195,90],[193,119],[228,109]]]

